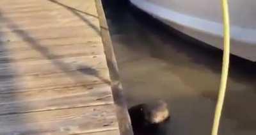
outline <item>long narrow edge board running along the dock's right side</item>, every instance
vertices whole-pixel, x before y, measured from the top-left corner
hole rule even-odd
[[[120,77],[118,74],[118,67],[115,58],[115,52],[109,35],[108,24],[104,15],[103,6],[101,0],[95,0],[97,11],[99,14],[100,30],[106,59],[109,67],[109,74],[112,80],[112,91],[116,106],[116,116],[119,123],[120,134],[132,135],[132,126],[129,113],[127,110],[127,104],[124,98],[122,84],[120,83]]]

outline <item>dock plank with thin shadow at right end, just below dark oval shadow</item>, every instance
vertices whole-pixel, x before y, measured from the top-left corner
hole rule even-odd
[[[26,76],[2,76],[0,77],[0,93],[44,90],[67,86],[81,86],[90,84],[110,84],[109,72],[106,69],[76,70],[70,72],[58,72],[54,74],[35,74]]]

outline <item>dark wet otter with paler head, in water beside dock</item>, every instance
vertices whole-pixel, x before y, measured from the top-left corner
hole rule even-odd
[[[163,100],[133,106],[129,109],[129,115],[133,129],[156,126],[170,118],[168,106]]]

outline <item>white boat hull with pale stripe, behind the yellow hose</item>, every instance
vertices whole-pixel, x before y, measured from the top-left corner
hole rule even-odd
[[[134,6],[165,24],[222,49],[221,1],[130,0]],[[256,1],[230,1],[231,53],[256,61]]]

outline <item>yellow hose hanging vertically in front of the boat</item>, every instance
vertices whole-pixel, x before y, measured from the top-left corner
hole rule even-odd
[[[224,103],[225,93],[227,88],[229,56],[230,56],[230,23],[229,23],[229,13],[228,13],[228,0],[222,0],[222,8],[223,8],[222,10],[223,10],[223,25],[224,25],[223,63],[222,63],[222,71],[221,71],[222,73],[221,73],[220,90],[218,95],[218,101],[216,104],[214,122],[212,126],[212,135],[218,135],[221,111],[223,108],[223,103]]]

